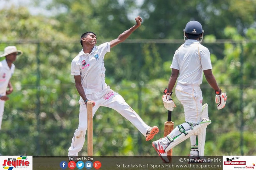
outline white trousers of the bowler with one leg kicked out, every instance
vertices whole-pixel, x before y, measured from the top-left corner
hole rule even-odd
[[[147,129],[150,128],[150,126],[148,126],[141,119],[141,117],[139,117],[139,115],[125,102],[124,98],[111,90],[109,86],[107,86],[105,90],[86,95],[86,97],[89,100],[95,101],[95,106],[92,108],[93,116],[100,106],[109,107],[113,108],[128,121],[130,121],[144,136],[146,135]],[[83,144],[85,142],[85,134],[87,130],[87,108],[81,99],[79,100],[79,104],[79,125],[78,129],[75,130],[71,146],[68,149],[69,156],[77,156],[78,152],[82,150]]]

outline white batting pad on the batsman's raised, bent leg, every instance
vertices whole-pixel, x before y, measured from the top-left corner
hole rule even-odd
[[[178,145],[179,143],[183,142],[184,140],[186,140],[187,138],[193,136],[193,135],[197,135],[201,132],[203,132],[204,129],[206,129],[206,127],[211,123],[210,119],[203,119],[202,122],[200,122],[198,125],[195,125],[193,129],[190,129],[188,131],[186,131],[188,134],[183,134],[181,133],[178,137],[175,137],[175,139],[173,140],[173,142],[171,142],[168,147],[166,149],[164,149],[164,152],[167,152],[169,150],[171,150],[173,147],[175,147],[176,145]]]

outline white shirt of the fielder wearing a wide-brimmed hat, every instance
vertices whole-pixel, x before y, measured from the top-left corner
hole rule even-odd
[[[6,59],[0,62],[0,95],[6,96],[6,90],[11,76],[14,73],[15,66],[11,64],[11,69],[7,64]]]

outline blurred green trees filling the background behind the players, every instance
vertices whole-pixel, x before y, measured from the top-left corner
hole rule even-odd
[[[106,83],[146,123],[159,126],[155,139],[163,137],[167,111],[161,95],[170,78],[173,54],[184,42],[185,24],[198,20],[205,30],[203,45],[211,52],[214,75],[228,95],[227,106],[217,110],[213,89],[203,80],[204,103],[209,104],[212,120],[205,153],[240,155],[242,147],[245,155],[255,155],[255,149],[249,149],[255,148],[256,141],[252,133],[256,120],[255,1],[145,0],[141,7],[133,0],[52,2],[50,9],[61,11],[52,16],[31,15],[25,7],[0,11],[0,49],[17,45],[24,51],[15,62],[11,79],[14,92],[6,102],[1,154],[67,155],[78,126],[79,95],[70,63],[81,50],[80,35],[93,31],[98,44],[117,38],[135,24],[129,14],[137,10],[142,26],[105,56]],[[230,40],[218,41],[220,38]],[[184,122],[184,111],[175,93],[173,99],[177,106],[173,120],[178,125]],[[157,155],[151,142],[116,111],[99,108],[93,121],[95,155]],[[229,143],[234,143],[235,149]],[[81,155],[86,155],[86,146]],[[189,148],[187,140],[173,153],[187,155]]]

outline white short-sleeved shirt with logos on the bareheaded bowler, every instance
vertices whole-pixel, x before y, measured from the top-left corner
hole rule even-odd
[[[95,46],[91,53],[82,51],[71,62],[71,75],[81,75],[85,94],[97,93],[107,88],[105,83],[104,56],[110,52],[110,43]]]

